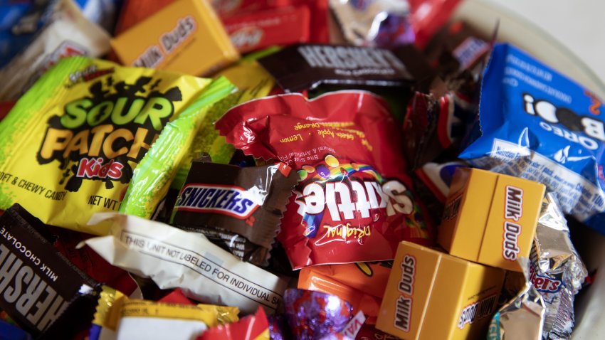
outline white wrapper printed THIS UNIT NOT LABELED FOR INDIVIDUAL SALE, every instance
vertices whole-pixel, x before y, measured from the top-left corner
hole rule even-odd
[[[162,289],[181,288],[191,299],[273,314],[287,282],[242,262],[202,235],[120,213],[95,214],[89,225],[111,224],[111,235],[85,243],[112,265],[151,278]]]

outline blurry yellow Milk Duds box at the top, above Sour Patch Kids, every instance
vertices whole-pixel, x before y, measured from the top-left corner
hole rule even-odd
[[[124,65],[207,75],[239,53],[206,0],[177,0],[112,39]]]

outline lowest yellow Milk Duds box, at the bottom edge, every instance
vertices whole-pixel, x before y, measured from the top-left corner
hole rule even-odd
[[[485,339],[504,273],[402,241],[376,328],[404,340]]]

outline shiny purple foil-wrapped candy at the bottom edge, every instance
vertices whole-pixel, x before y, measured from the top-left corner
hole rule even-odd
[[[283,301],[285,316],[297,340],[320,340],[340,333],[353,317],[351,304],[332,294],[287,289]]]

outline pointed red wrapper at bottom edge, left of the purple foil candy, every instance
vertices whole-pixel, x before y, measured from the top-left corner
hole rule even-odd
[[[196,340],[263,340],[269,339],[269,323],[262,308],[254,315],[233,324],[222,324],[204,331]]]

